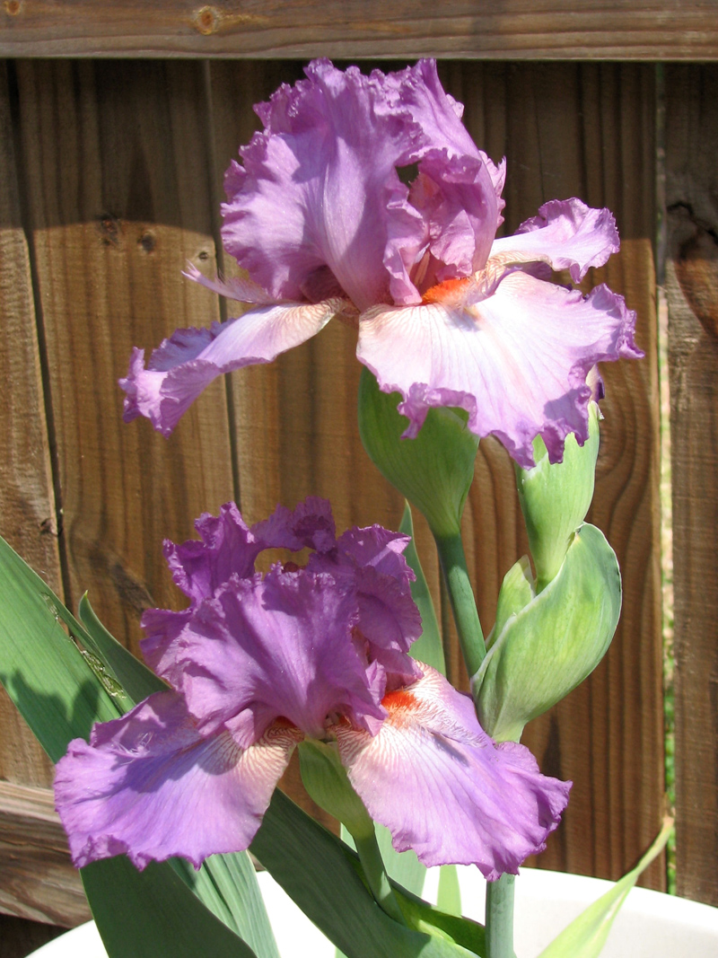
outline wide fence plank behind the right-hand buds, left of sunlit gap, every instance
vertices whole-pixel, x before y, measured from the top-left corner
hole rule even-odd
[[[535,864],[618,878],[658,832],[662,816],[662,659],[658,393],[655,331],[654,74],[638,65],[440,65],[466,103],[464,121],[489,155],[506,155],[505,232],[541,203],[580,196],[617,217],[622,248],[594,271],[638,311],[647,358],[606,364],[607,396],[589,519],[623,573],[612,649],[583,686],[527,728],[544,771],[572,779],[572,798]],[[505,572],[527,553],[513,468],[482,442],[464,537],[482,624],[493,624]],[[664,887],[662,863],[644,876]]]

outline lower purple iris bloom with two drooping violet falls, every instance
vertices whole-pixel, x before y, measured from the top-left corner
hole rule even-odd
[[[380,526],[338,538],[324,500],[248,528],[234,503],[166,544],[181,612],[143,619],[148,663],[168,681],[94,727],[57,764],[56,807],[78,866],[126,853],[144,868],[195,867],[246,849],[295,746],[334,742],[370,815],[427,865],[516,872],[544,847],[570,783],[523,745],[497,745],[471,699],[408,654],[421,631],[407,537]],[[312,550],[277,563],[270,547]]]

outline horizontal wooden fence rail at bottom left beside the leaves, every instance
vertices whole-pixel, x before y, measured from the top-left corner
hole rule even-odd
[[[91,917],[49,788],[0,782],[0,910],[65,927]]]

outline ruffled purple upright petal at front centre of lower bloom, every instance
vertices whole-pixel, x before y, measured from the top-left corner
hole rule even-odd
[[[344,584],[275,566],[263,580],[233,577],[218,589],[164,662],[204,733],[230,724],[248,744],[281,717],[322,738],[333,714],[373,732],[385,712],[351,641],[357,618]]]

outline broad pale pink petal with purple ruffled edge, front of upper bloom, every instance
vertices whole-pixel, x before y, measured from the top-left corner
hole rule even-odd
[[[478,436],[493,434],[524,468],[534,465],[541,435],[551,462],[566,436],[588,436],[586,376],[596,362],[637,358],[636,314],[605,285],[587,297],[509,272],[479,302],[469,283],[450,302],[377,307],[364,313],[357,355],[415,436],[432,406],[459,406]],[[397,344],[401,348],[397,349]]]

